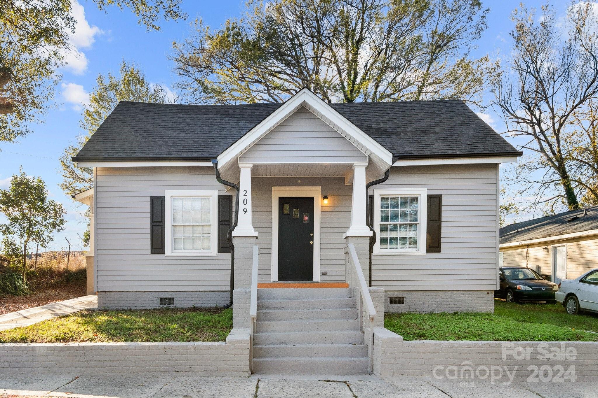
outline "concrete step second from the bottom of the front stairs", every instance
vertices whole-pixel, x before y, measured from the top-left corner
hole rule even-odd
[[[254,358],[264,357],[367,357],[364,344],[277,344],[254,345]]]

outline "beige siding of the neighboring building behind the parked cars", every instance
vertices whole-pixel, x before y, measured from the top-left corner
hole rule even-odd
[[[505,267],[530,267],[541,274],[553,274],[552,245],[567,246],[567,278],[575,279],[582,273],[598,268],[598,237],[577,237],[575,239],[535,243],[502,249],[502,264]],[[527,255],[526,255],[527,254]]]

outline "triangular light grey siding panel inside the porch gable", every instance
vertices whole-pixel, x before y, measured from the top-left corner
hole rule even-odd
[[[368,158],[318,116],[301,107],[240,156],[246,163],[367,162]]]

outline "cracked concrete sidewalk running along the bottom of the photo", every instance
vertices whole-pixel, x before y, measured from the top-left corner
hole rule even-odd
[[[44,397],[596,397],[596,379],[511,385],[429,378],[380,380],[373,376],[334,378],[196,377],[190,374],[10,374],[0,373],[2,396]]]

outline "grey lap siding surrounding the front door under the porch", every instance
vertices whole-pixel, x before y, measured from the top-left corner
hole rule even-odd
[[[301,181],[301,182],[298,182]],[[258,232],[260,246],[260,282],[271,280],[272,237],[272,187],[273,186],[321,186],[322,196],[328,196],[328,205],[316,198],[321,205],[320,271],[322,282],[344,282],[344,239],[351,223],[352,186],[338,177],[254,177],[252,184],[252,213],[254,229]]]

